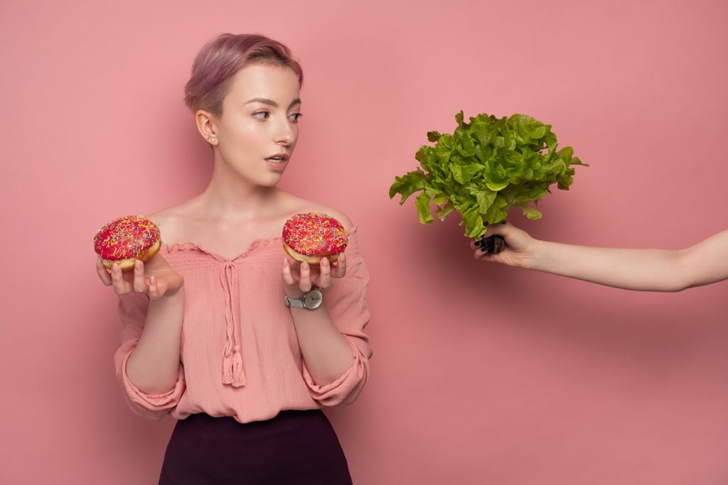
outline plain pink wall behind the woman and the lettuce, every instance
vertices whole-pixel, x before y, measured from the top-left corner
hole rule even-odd
[[[107,220],[193,196],[197,49],[266,33],[304,65],[284,188],[347,212],[371,270],[371,381],[329,412],[357,484],[728,483],[728,282],[625,292],[472,259],[458,217],[387,198],[454,114],[529,113],[591,164],[544,218],[579,244],[727,227],[724,1],[0,4],[0,482],[151,484],[173,420],[125,406]],[[346,2],[349,3],[349,2]]]

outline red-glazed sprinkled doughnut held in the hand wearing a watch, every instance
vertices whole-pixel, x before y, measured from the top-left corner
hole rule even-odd
[[[322,257],[339,259],[348,243],[347,230],[321,212],[296,214],[283,225],[283,249],[296,261],[318,265]]]

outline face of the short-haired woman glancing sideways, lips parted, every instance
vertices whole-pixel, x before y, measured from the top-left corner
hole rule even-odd
[[[223,163],[256,185],[276,185],[296,148],[300,111],[293,69],[242,68],[223,99],[215,130]]]

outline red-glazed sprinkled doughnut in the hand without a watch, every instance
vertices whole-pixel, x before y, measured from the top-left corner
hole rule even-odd
[[[122,270],[134,268],[136,260],[150,260],[160,246],[159,228],[141,215],[114,219],[100,228],[93,238],[93,249],[108,269],[114,262]]]

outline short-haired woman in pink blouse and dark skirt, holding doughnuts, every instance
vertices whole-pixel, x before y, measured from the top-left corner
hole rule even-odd
[[[210,184],[149,216],[162,232],[151,260],[123,273],[97,264],[120,295],[127,401],[179,420],[160,484],[351,483],[320,408],[351,403],[367,380],[368,272],[345,215],[276,186],[298,140],[302,79],[288,48],[264,36],[206,44],[185,102],[212,150]],[[288,260],[280,234],[298,212],[348,229],[338,262]],[[284,305],[314,284],[319,308]]]

